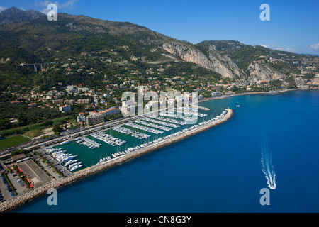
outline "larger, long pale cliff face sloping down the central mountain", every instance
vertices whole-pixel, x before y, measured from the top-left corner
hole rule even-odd
[[[229,57],[221,55],[213,46],[209,47],[208,56],[201,50],[184,43],[164,43],[162,48],[174,56],[181,57],[186,62],[194,62],[208,70],[218,72],[223,77],[242,77],[237,65]]]

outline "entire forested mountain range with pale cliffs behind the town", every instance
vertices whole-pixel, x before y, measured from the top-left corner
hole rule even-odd
[[[13,71],[24,75],[18,78],[25,77],[27,72],[20,67],[23,62],[57,62],[60,68],[55,70],[61,73],[57,77],[65,83],[83,80],[92,83],[84,73],[62,70],[61,65],[69,64],[70,59],[85,59],[91,67],[100,69],[94,76],[100,83],[105,74],[110,77],[106,81],[115,81],[119,74],[122,77],[138,74],[138,78],[146,79],[145,73],[154,74],[155,68],[154,75],[159,79],[198,75],[203,82],[216,82],[220,78],[251,83],[285,81],[301,72],[313,73],[303,69],[317,67],[319,62],[319,57],[245,45],[235,40],[192,44],[134,23],[83,15],[58,13],[57,21],[48,21],[43,13],[13,7],[0,13],[0,24],[0,71],[8,75],[4,86],[12,83]],[[111,66],[107,62],[112,62]],[[27,74],[31,77],[30,70]],[[37,78],[33,75],[30,79]],[[49,84],[54,84],[52,78],[47,77]]]

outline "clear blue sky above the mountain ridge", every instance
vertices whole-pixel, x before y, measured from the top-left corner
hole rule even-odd
[[[0,11],[11,6],[44,11],[49,3],[57,4],[58,13],[137,23],[191,43],[238,40],[319,55],[318,0],[0,0]],[[270,21],[259,18],[262,4],[270,6]]]

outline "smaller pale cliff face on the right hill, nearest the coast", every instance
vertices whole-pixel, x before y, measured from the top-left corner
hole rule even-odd
[[[260,80],[272,80],[272,79],[285,79],[286,76],[276,70],[270,68],[267,65],[259,64],[257,62],[252,62],[248,66],[248,71],[250,74],[248,75],[247,80],[249,82],[257,82]]]

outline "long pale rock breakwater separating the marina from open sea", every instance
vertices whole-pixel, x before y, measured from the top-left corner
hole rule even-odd
[[[145,155],[146,153],[150,153],[164,146],[170,145],[172,143],[176,143],[179,140],[188,138],[189,136],[194,135],[196,133],[200,133],[201,131],[206,131],[208,128],[218,126],[219,124],[224,123],[225,121],[228,121],[228,119],[230,119],[231,116],[233,116],[232,109],[226,109],[226,110],[228,112],[225,118],[223,118],[222,120],[218,122],[208,123],[205,126],[198,127],[194,130],[187,131],[186,133],[182,133],[181,135],[177,135],[177,136],[174,136],[173,138],[164,140],[163,142],[158,143],[157,145],[141,148],[140,150],[135,151],[133,153],[127,153],[109,162],[103,163],[101,165],[94,165],[85,170],[79,171],[70,177],[66,177],[64,179],[57,179],[55,181],[52,181],[48,184],[43,185],[42,187],[39,187],[38,189],[33,189],[30,192],[27,192],[25,194],[20,194],[18,196],[15,196],[12,199],[9,199],[8,201],[4,201],[3,203],[1,203],[0,212],[4,213],[4,212],[12,211],[13,209],[18,208],[18,206],[21,206],[22,204],[26,204],[28,201],[31,201],[33,199],[36,199],[40,196],[47,194],[48,189],[52,189],[52,188],[58,189],[67,184],[72,184],[73,182],[77,182],[81,179],[94,175],[98,172],[102,172],[103,170],[108,170],[109,168],[114,167],[116,165],[121,165],[123,162],[128,162],[130,160],[135,159],[136,157]]]

